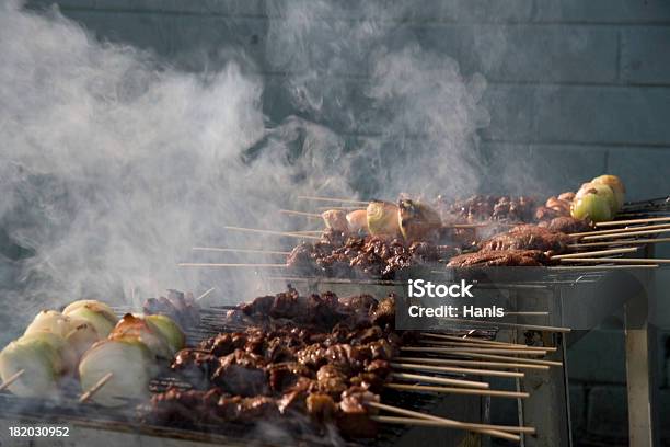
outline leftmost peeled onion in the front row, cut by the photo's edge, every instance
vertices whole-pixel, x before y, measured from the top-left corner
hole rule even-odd
[[[0,352],[2,381],[24,370],[9,390],[24,398],[58,394],[59,381],[76,368],[76,355],[58,334],[35,331],[10,343]]]

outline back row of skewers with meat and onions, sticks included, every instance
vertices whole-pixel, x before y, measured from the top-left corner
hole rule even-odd
[[[401,198],[397,205],[372,200],[304,196],[310,200],[348,203],[321,214],[285,210],[323,219],[323,230],[251,231],[304,239],[293,250],[196,248],[198,251],[286,256],[286,263],[182,263],[188,267],[288,268],[299,276],[392,279],[406,267],[442,263],[450,267],[555,266],[555,268],[654,267],[669,260],[621,257],[670,231],[670,217],[610,220],[624,206],[625,188],[614,175],[585,183],[577,193],[550,197],[543,206],[520,197],[475,197],[429,206]],[[521,218],[532,222],[519,221]],[[488,216],[488,218],[486,218]],[[473,220],[473,218],[478,220]]]

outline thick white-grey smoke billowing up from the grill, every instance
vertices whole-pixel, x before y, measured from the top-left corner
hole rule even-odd
[[[304,208],[300,193],[476,190],[483,78],[423,50],[396,20],[411,9],[332,3],[272,2],[267,66],[227,51],[203,72],[101,43],[58,12],[0,7],[0,228],[33,254],[0,256],[5,314],[23,316],[12,324],[82,297],[277,289],[250,271],[177,263],[231,261],[194,245],[282,248],[222,227],[304,227],[277,214]],[[253,74],[264,69],[287,74],[270,89]],[[268,111],[277,95],[284,108]]]

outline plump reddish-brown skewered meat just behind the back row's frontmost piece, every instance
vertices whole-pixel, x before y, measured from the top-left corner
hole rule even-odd
[[[564,253],[571,242],[573,238],[565,233],[534,225],[520,225],[482,242],[482,251],[540,250],[548,254],[559,254]]]

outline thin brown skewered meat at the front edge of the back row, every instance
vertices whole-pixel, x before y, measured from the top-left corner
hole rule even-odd
[[[454,256],[448,267],[505,267],[542,266],[550,264],[550,257],[540,250],[478,251]]]

